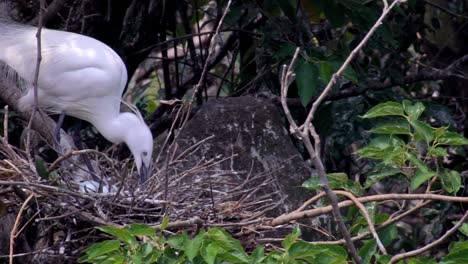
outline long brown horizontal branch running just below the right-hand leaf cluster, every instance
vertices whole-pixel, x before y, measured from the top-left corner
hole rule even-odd
[[[468,197],[446,196],[439,194],[379,194],[357,198],[361,203],[381,202],[391,200],[437,200],[446,202],[468,203]],[[352,201],[343,201],[338,203],[338,207],[348,207],[353,205]],[[282,225],[294,220],[315,217],[322,214],[328,214],[332,211],[332,206],[324,206],[320,208],[310,209],[303,212],[292,212],[289,214],[278,216],[270,223],[272,226]]]

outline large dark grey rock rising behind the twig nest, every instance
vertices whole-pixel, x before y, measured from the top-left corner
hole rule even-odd
[[[311,176],[311,170],[293,145],[279,109],[271,102],[252,97],[206,102],[178,135],[178,149],[184,151],[211,136],[181,166],[190,169],[203,159],[232,157],[214,166],[212,175],[223,177],[217,180],[226,183],[226,190],[241,185],[246,178],[264,175],[243,189],[269,181],[256,195],[287,196],[275,214],[291,211],[307,199],[300,186]]]

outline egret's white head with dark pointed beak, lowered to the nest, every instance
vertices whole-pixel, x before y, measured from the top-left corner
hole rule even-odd
[[[133,113],[124,113],[128,127],[125,143],[132,152],[140,174],[140,183],[145,182],[151,172],[153,135],[143,119]]]

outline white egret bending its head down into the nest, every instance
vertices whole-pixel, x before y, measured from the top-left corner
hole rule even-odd
[[[0,17],[0,61],[21,77],[26,88],[18,102],[20,110],[34,105],[36,32],[36,27]],[[121,58],[96,39],[65,31],[44,28],[41,46],[39,106],[90,122],[110,142],[125,142],[144,181],[151,166],[153,136],[136,108],[133,113],[120,112],[127,83]]]

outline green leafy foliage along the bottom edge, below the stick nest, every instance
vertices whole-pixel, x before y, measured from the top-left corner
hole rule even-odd
[[[166,218],[167,219],[167,218]],[[166,220],[167,225],[167,220]],[[117,240],[98,242],[85,250],[80,263],[346,263],[348,254],[341,246],[314,245],[298,241],[301,231],[294,228],[281,243],[284,251],[265,253],[263,246],[247,254],[241,243],[221,228],[202,230],[194,238],[180,233],[168,238],[142,224],[123,228],[100,227]],[[145,242],[142,242],[145,241]]]

